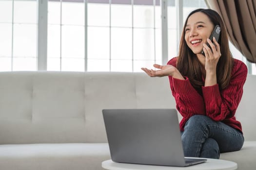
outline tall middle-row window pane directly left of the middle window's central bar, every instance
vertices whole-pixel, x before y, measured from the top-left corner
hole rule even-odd
[[[84,58],[84,27],[62,26],[61,57]]]

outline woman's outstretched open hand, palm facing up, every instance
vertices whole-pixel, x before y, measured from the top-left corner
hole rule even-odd
[[[145,71],[150,77],[163,77],[163,76],[172,76],[178,79],[183,79],[183,76],[180,74],[180,72],[172,65],[165,65],[161,66],[158,64],[153,65],[155,68],[158,68],[158,70],[148,69],[148,68],[141,68],[143,71]]]

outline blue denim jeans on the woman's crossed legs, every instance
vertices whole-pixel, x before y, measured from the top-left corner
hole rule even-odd
[[[242,148],[242,133],[207,116],[192,116],[181,132],[184,155],[187,157],[219,158],[219,153]]]

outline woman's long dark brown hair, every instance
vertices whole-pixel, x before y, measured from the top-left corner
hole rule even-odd
[[[197,9],[188,15],[181,34],[179,54],[177,58],[177,69],[183,76],[187,76],[193,87],[195,87],[197,91],[201,93],[201,86],[203,85],[201,66],[196,54],[193,53],[185,41],[185,27],[187,25],[188,18],[197,12],[207,15],[214,25],[219,25],[221,27],[221,34],[218,40],[221,56],[217,63],[217,83],[220,90],[222,90],[229,85],[234,59],[229,50],[226,27],[221,17],[214,10]]]

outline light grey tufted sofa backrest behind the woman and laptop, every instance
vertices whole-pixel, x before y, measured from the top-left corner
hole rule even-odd
[[[245,138],[256,140],[249,75],[237,110]],[[145,73],[1,72],[0,144],[107,142],[102,109],[176,108],[169,81]]]

